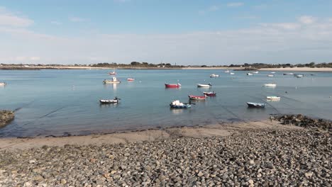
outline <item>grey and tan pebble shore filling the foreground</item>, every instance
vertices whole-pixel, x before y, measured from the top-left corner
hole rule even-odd
[[[331,186],[326,131],[237,130],[0,152],[0,186]]]

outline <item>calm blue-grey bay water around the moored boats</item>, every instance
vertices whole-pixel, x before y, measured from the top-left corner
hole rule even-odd
[[[121,70],[121,84],[104,85],[106,70],[0,71],[0,108],[16,111],[15,120],[0,129],[0,137],[35,135],[82,135],[140,128],[204,125],[236,120],[260,120],[271,113],[303,113],[332,120],[332,74],[306,72],[304,78],[277,72],[247,76],[223,70]],[[220,74],[209,78],[209,74]],[[135,81],[126,81],[135,77]],[[165,89],[165,82],[182,84]],[[212,89],[197,83],[211,82]],[[262,87],[276,82],[277,87]],[[72,87],[74,86],[74,87]],[[171,110],[169,103],[188,101],[188,94],[216,91],[215,98],[196,102],[187,110]],[[285,93],[287,91],[287,94]],[[281,101],[265,101],[266,96]],[[118,105],[99,105],[101,98],[121,98]],[[247,108],[246,102],[266,102],[265,109]]]

